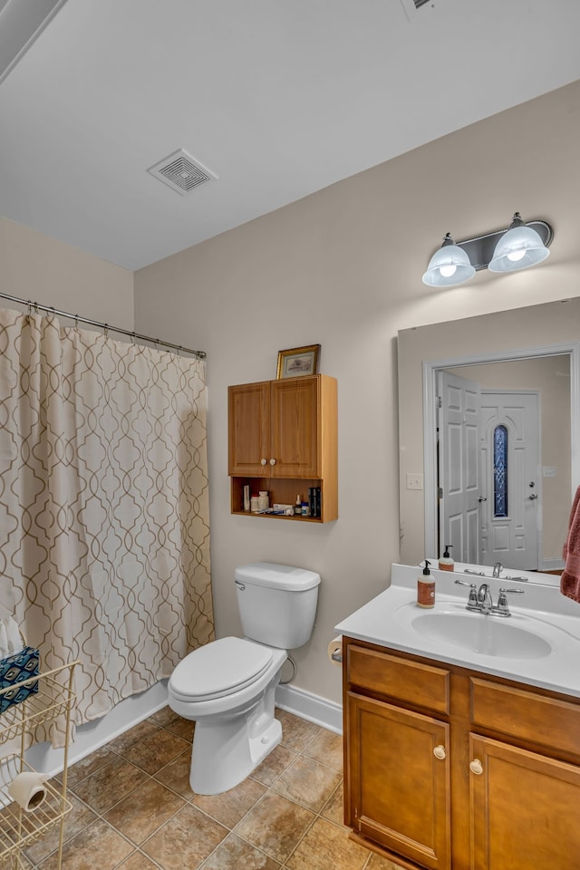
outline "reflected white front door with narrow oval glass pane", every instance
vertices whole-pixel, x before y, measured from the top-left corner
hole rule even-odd
[[[481,565],[501,562],[520,571],[538,567],[538,511],[541,503],[539,456],[539,401],[534,391],[481,391],[479,471]],[[498,427],[503,429],[498,432]],[[506,491],[498,485],[494,438],[505,432]],[[503,448],[500,443],[496,454]]]

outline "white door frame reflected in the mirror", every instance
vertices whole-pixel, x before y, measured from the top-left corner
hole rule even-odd
[[[478,353],[474,356],[455,356],[440,360],[423,360],[423,471],[425,553],[428,558],[437,553],[437,440],[436,401],[437,372],[441,368],[470,365],[478,362],[511,362],[542,356],[567,354],[570,357],[570,504],[580,484],[580,343],[558,342],[535,345],[516,351]]]

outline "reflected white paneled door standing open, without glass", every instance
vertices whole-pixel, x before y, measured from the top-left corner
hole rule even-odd
[[[479,384],[439,372],[439,542],[457,562],[479,560]]]

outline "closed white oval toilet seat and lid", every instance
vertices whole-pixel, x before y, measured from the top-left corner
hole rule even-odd
[[[211,701],[240,691],[267,671],[274,651],[239,637],[207,643],[179,662],[169,691],[179,701]]]

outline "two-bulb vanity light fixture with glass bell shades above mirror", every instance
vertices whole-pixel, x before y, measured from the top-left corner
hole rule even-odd
[[[554,230],[545,220],[525,223],[517,211],[507,229],[454,242],[449,233],[431,256],[423,284],[453,287],[469,281],[481,269],[517,272],[536,266],[549,256]]]

